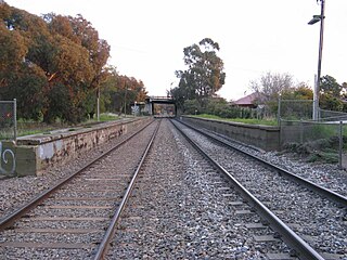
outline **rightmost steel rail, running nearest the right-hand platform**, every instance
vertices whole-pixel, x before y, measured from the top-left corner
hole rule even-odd
[[[230,143],[226,143],[223,140],[220,140],[222,138],[218,139],[218,138],[207,133],[206,131],[202,131],[202,130],[200,130],[200,129],[197,129],[195,127],[192,127],[192,126],[190,126],[190,125],[188,125],[185,122],[182,122],[182,121],[179,121],[179,122],[184,125],[184,126],[187,126],[187,127],[189,127],[189,128],[191,128],[191,129],[193,129],[193,130],[195,130],[195,131],[197,131],[198,133],[201,133],[201,134],[203,134],[203,135],[205,135],[205,136],[207,136],[209,139],[213,139],[214,141],[222,144],[223,146],[227,146],[227,147],[230,147],[232,150],[235,150],[235,151],[237,151],[237,152],[240,152],[240,153],[242,153],[242,154],[244,154],[246,156],[252,157],[253,159],[258,160],[259,162],[261,162],[266,167],[269,167],[269,168],[278,171],[280,174],[283,174],[284,177],[287,177],[287,178],[294,180],[295,182],[301,184],[303,186],[305,186],[305,187],[307,187],[307,188],[309,188],[309,190],[311,190],[311,191],[313,191],[313,192],[326,197],[331,202],[339,204],[343,207],[347,207],[347,197],[346,196],[343,196],[343,195],[340,195],[340,194],[338,194],[338,193],[336,193],[334,191],[331,191],[331,190],[329,190],[326,187],[318,185],[318,184],[316,184],[316,183],[313,183],[313,182],[311,182],[309,180],[306,180],[306,179],[304,179],[304,178],[301,178],[301,177],[299,177],[299,176],[297,176],[297,174],[295,174],[293,172],[290,172],[288,170],[285,170],[285,169],[281,168],[280,166],[273,165],[273,164],[271,164],[271,162],[269,162],[269,161],[267,161],[265,159],[261,159],[261,158],[259,158],[259,157],[257,157],[257,156],[255,156],[255,155],[253,155],[253,154],[250,154],[250,153],[248,153],[246,151],[242,151],[242,150],[237,148],[236,146],[234,146],[234,145],[232,145]]]

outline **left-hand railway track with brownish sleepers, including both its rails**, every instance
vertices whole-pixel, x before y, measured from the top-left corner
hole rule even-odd
[[[146,126],[1,219],[1,256],[101,259],[158,127]]]

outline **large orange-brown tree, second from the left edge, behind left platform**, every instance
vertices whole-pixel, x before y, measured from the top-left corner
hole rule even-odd
[[[68,113],[66,117],[69,121],[80,121],[95,110],[97,96],[107,77],[105,65],[110,46],[99,39],[98,31],[81,15],[72,17],[46,14],[43,20],[60,42],[59,53],[63,58],[57,58],[60,68],[55,76],[66,88],[67,101],[75,112]]]

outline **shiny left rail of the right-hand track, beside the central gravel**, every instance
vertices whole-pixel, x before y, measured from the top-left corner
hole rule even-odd
[[[282,220],[280,220],[270,209],[268,209],[260,200],[258,200],[250,192],[248,192],[230,172],[228,172],[216,160],[209,157],[193,140],[191,140],[176,123],[176,129],[188,140],[188,142],[209,160],[218,170],[220,170],[232,183],[235,190],[254,207],[257,212],[266,219],[270,226],[279,232],[281,238],[297,253],[303,260],[324,260],[312,247],[310,247],[301,237],[292,231]]]

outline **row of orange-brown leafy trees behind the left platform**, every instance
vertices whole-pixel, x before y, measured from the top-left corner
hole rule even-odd
[[[0,100],[17,99],[21,118],[80,122],[100,92],[105,109],[121,110],[125,91],[144,100],[142,81],[107,66],[111,47],[82,15],[40,17],[0,2]]]

